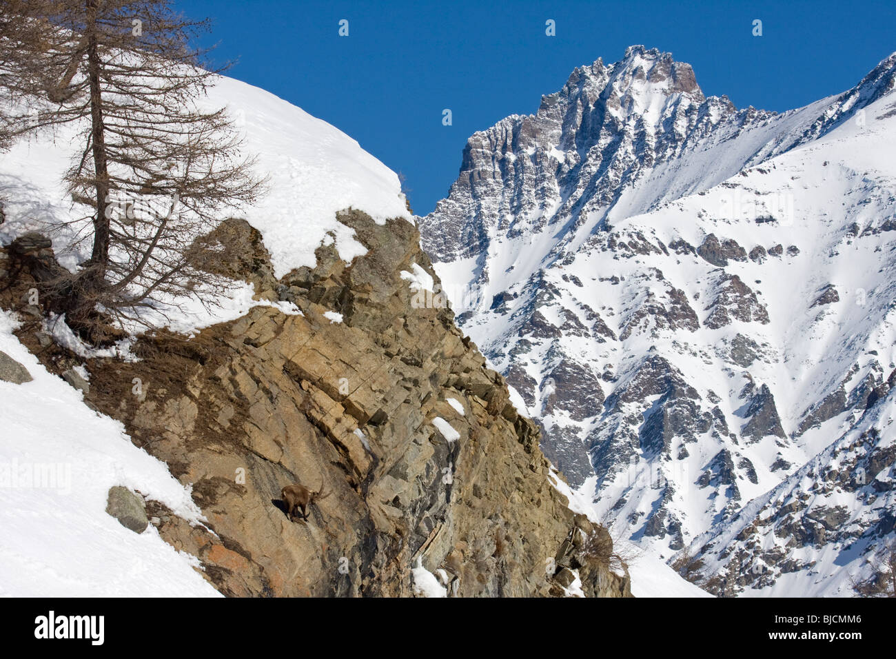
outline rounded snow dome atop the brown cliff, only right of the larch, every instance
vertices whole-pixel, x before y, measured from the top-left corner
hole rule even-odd
[[[398,175],[339,129],[273,94],[232,78],[221,78],[209,95],[227,106],[246,131],[246,152],[258,156],[270,192],[246,209],[246,220],[264,236],[274,274],[314,267],[314,250],[335,240],[350,261],[366,249],[336,213],[355,208],[377,223],[410,220]]]

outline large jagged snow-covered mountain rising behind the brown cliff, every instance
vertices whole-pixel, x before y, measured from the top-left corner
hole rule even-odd
[[[863,533],[893,533],[894,64],[776,113],[705,98],[689,66],[629,48],[470,137],[450,195],[419,222],[463,329],[541,422],[546,454],[651,551],[711,546],[693,572],[713,593],[780,578],[740,579],[734,550],[863,577]],[[879,499],[826,533],[816,513],[840,493],[804,491],[797,474],[871,413]],[[748,525],[747,504],[775,488],[817,501],[732,544],[733,520]],[[793,542],[776,538],[785,527]],[[828,576],[806,593],[846,592]]]

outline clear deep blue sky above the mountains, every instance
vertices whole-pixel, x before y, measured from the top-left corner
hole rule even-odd
[[[896,2],[180,0],[213,21],[229,74],[358,140],[406,177],[418,214],[447,195],[467,137],[538,109],[577,65],[643,44],[707,95],[785,110],[849,89],[896,50]],[[349,21],[340,37],[339,22]],[[545,22],[556,22],[547,37]],[[762,20],[762,37],[753,21]],[[443,126],[444,108],[452,126]]]

